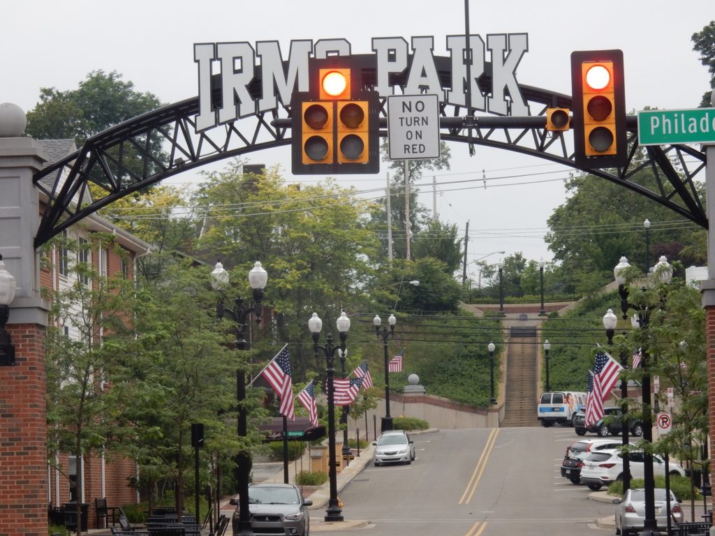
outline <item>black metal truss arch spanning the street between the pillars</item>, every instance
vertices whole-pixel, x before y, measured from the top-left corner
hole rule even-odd
[[[450,61],[445,56],[435,57],[443,87],[451,86]],[[359,69],[364,88],[374,86],[373,54],[350,56],[350,64]],[[260,77],[258,69],[250,86],[254,99],[260,97]],[[221,99],[217,82],[215,79],[212,95],[215,103]],[[490,82],[491,65],[486,64],[485,74],[479,79],[484,93],[488,91]],[[404,87],[406,74],[394,76],[393,84]],[[695,175],[705,167],[704,153],[686,145],[649,146],[641,157],[636,118],[629,116],[629,158],[626,167],[578,167],[563,136],[545,129],[546,109],[554,106],[571,108],[571,97],[533,86],[520,84],[519,87],[536,115],[490,116],[473,110],[475,115],[468,116],[463,106],[445,103],[440,105],[441,138],[449,142],[507,149],[581,169],[649,197],[707,228],[706,214],[694,186]],[[380,102],[380,135],[387,136],[386,99]],[[199,134],[194,129],[194,116],[198,112],[199,98],[195,97],[129,119],[95,134],[77,152],[35,174],[36,187],[49,197],[35,237],[35,247],[107,204],[162,179],[221,159],[291,142],[290,106],[286,104]],[[157,140],[163,142],[168,151],[158,151]],[[651,170],[656,184],[654,189],[636,182],[636,174],[643,169]],[[89,184],[95,185],[94,197],[89,202],[78,203],[77,199],[90,199],[87,196]]]

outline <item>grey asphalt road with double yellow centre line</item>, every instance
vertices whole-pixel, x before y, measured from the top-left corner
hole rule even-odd
[[[412,465],[374,467],[342,492],[346,519],[374,536],[611,534],[596,520],[613,505],[561,477],[573,428],[443,430],[413,436]],[[327,534],[330,534],[327,531]],[[335,531],[335,534],[338,532]]]

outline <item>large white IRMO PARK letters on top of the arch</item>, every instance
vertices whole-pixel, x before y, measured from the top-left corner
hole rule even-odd
[[[411,47],[411,62],[410,59]],[[443,87],[435,66],[434,38],[375,37],[372,50],[375,55],[374,91],[380,97],[395,94],[390,80],[393,74],[408,72],[407,84],[402,94],[436,94],[440,102],[465,106],[467,65],[465,64],[466,39],[463,35],[447,36],[450,54],[451,79],[462,84]],[[470,86],[471,106],[479,111],[497,115],[528,116],[529,109],[516,81],[516,68],[528,51],[527,34],[490,34],[484,41],[478,35],[470,36],[473,56]],[[245,41],[230,43],[194,44],[194,62],[198,66],[199,114],[195,116],[196,131],[211,129],[242,117],[262,111],[275,110],[281,104],[290,104],[295,91],[309,91],[309,59],[330,56],[350,56],[350,43],[345,39],[291,41],[287,60],[283,58],[277,41],[257,41],[255,46]],[[490,56],[490,70],[486,69]],[[256,76],[260,72],[260,76]],[[221,104],[212,102],[212,76],[220,79],[218,90]],[[480,91],[478,81],[490,78],[488,94]],[[260,79],[260,96],[252,96],[250,86]],[[461,86],[459,86],[461,85]]]

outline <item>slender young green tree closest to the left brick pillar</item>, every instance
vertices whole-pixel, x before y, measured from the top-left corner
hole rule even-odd
[[[69,287],[44,292],[51,303],[51,322],[46,336],[46,398],[48,460],[54,452],[69,452],[77,460],[112,448],[112,407],[116,399],[108,389],[119,357],[133,344],[134,292],[122,277],[100,277],[83,259],[112,237],[92,234],[89,239],[58,238],[49,242],[73,252],[69,263]],[[59,467],[69,477],[66,467]],[[82,464],[77,462],[75,490],[84,487]],[[77,519],[82,500],[77,495]],[[77,523],[77,535],[81,524]]]

